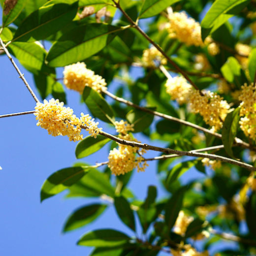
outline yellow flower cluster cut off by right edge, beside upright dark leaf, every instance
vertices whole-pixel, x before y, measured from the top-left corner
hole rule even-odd
[[[240,128],[246,136],[256,139],[256,88],[253,84],[244,84],[241,87],[239,100],[241,110],[240,115],[243,116],[240,121]]]

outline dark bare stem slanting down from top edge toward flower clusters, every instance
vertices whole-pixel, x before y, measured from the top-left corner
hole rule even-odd
[[[190,79],[190,77],[186,74],[185,71],[183,71],[174,61],[172,61],[170,59],[170,57],[162,50],[162,48],[155,43],[130,17],[129,15],[124,11],[124,9],[120,6],[120,4],[115,1],[112,0],[115,4],[116,7],[123,13],[123,15],[127,18],[127,20],[129,21],[129,23],[138,31],[140,32],[152,45],[154,45],[159,51],[160,53],[168,60],[168,62],[170,64],[172,64],[175,69],[180,72],[190,83],[191,85],[200,92],[200,94],[203,96],[202,92],[199,90],[199,88],[194,84],[194,82]]]

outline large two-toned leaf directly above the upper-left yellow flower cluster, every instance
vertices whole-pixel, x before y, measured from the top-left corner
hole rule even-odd
[[[78,26],[52,45],[46,61],[55,67],[83,61],[103,49],[121,30],[101,23]]]

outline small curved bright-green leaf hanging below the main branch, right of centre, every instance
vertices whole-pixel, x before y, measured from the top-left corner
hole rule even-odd
[[[197,162],[197,161],[196,161]],[[176,164],[169,172],[166,178],[166,186],[171,187],[172,183],[176,181],[182,174],[194,166],[195,161],[186,161]]]

